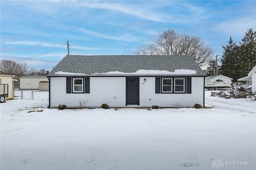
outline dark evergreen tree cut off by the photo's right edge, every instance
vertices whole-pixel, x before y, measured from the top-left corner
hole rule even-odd
[[[242,69],[248,74],[256,65],[256,31],[248,29],[240,47]]]

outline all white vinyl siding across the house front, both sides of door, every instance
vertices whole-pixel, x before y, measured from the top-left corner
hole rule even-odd
[[[196,103],[204,105],[204,77],[191,78],[191,94],[155,94],[155,77],[140,77],[139,82],[140,107],[193,107]],[[186,89],[186,81],[184,88]],[[78,102],[84,100],[88,100],[86,107],[100,107],[103,103],[110,107],[125,107],[126,77],[90,77],[90,94],[67,94],[66,77],[50,78],[51,107],[58,107],[59,104],[78,107]]]

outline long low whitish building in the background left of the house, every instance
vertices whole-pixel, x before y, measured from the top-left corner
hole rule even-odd
[[[48,81],[46,76],[22,76],[20,77],[20,90],[39,90],[39,82]]]

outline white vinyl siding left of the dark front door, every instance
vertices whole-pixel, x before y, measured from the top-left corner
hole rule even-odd
[[[50,106],[78,107],[79,101],[88,100],[86,107],[124,107],[126,104],[125,77],[90,77],[90,94],[66,93],[66,77],[51,77]]]

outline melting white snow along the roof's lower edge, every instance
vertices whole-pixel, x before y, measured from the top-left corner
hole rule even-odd
[[[72,73],[72,72],[62,72],[58,71],[55,74],[62,74],[62,75],[85,75],[81,73]],[[187,75],[187,74],[196,74],[195,70],[187,70],[187,69],[179,69],[174,70],[174,72],[169,72],[167,70],[137,70],[136,72],[119,72],[119,71],[110,71],[110,72],[103,72],[103,73],[94,73],[94,75],[127,75],[127,74],[154,74],[154,75],[162,75],[162,74],[176,74],[176,75]]]

